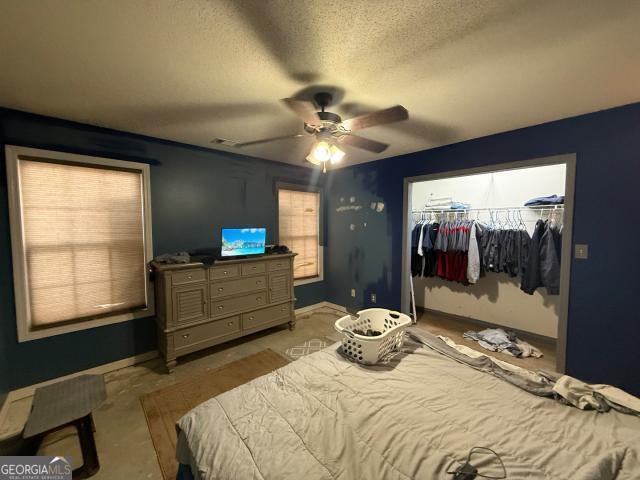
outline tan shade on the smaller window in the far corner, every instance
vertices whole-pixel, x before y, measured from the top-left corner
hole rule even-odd
[[[278,203],[279,242],[298,254],[293,278],[317,277],[320,194],[280,189]]]

